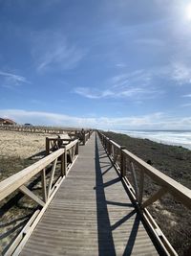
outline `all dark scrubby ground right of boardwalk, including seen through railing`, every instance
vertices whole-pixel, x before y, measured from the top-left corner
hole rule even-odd
[[[104,134],[165,175],[191,189],[191,151],[148,139],[132,138],[126,134],[115,132],[104,132]],[[144,197],[148,197],[156,189],[157,184],[147,178]],[[150,206],[149,211],[179,255],[191,255],[191,211],[170,195],[164,196]]]

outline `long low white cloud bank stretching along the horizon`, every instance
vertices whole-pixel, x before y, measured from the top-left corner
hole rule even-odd
[[[161,112],[129,117],[74,117],[50,112],[27,111],[22,109],[1,109],[0,117],[11,118],[19,124],[48,125],[77,128],[153,128],[183,129],[191,126],[191,117],[169,117]]]

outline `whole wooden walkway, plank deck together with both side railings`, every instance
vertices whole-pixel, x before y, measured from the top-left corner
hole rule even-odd
[[[39,205],[4,255],[177,255],[146,207],[170,193],[191,208],[191,191],[97,134],[78,158],[74,140],[0,183],[0,200],[20,190]],[[26,185],[34,175],[42,198]],[[160,189],[143,200],[145,175]]]

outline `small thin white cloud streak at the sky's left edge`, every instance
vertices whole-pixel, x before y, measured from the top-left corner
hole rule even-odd
[[[30,81],[27,81],[25,77],[15,75],[12,73],[4,72],[0,70],[0,82],[1,86],[12,88],[18,85],[21,85],[22,83],[31,83]]]

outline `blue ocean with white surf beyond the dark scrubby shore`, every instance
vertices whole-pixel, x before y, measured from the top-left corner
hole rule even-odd
[[[167,145],[182,146],[191,150],[191,130],[113,130],[134,138],[150,139]]]

